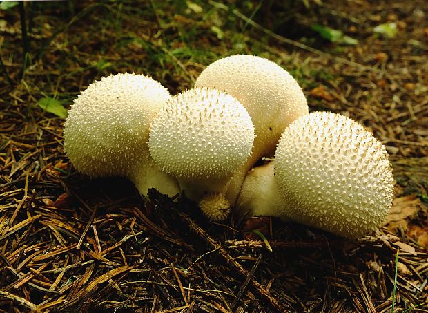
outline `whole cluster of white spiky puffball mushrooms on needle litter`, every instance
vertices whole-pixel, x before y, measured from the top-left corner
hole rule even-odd
[[[70,108],[64,147],[81,173],[183,193],[215,221],[233,208],[359,238],[393,198],[385,146],[349,117],[309,113],[295,79],[253,55],[215,61],[175,96],[148,76],[104,77]]]

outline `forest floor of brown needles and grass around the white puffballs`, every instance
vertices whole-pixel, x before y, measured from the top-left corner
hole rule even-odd
[[[428,312],[426,1],[265,2],[26,2],[26,35],[0,3],[1,312]],[[64,108],[88,84],[135,72],[175,94],[237,53],[385,144],[396,199],[376,234],[260,218],[270,252],[233,218],[73,169]]]

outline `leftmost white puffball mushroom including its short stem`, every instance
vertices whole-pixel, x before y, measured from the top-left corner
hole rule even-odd
[[[91,177],[127,177],[143,195],[152,187],[179,193],[175,178],[155,167],[147,145],[148,126],[170,98],[162,84],[144,75],[119,73],[90,84],[68,111],[68,158]]]

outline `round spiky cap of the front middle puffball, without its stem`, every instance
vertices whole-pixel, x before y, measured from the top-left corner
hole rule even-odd
[[[249,155],[254,127],[234,97],[195,88],[171,98],[150,126],[148,146],[162,171],[184,180],[231,176]]]

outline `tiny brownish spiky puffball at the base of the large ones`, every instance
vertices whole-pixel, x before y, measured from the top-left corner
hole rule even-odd
[[[214,222],[225,220],[231,211],[231,204],[221,193],[208,193],[199,202],[204,215]]]

